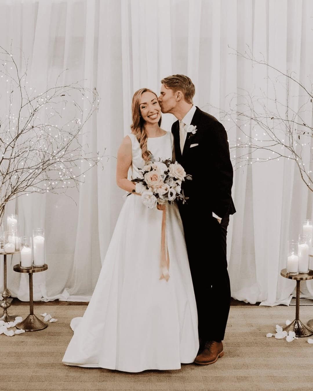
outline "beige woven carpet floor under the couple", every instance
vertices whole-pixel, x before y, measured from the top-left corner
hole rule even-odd
[[[36,305],[35,314],[48,312],[58,319],[48,328],[14,337],[0,335],[0,389],[23,390],[313,390],[313,344],[307,338],[291,343],[274,337],[276,323],[292,320],[295,307],[231,307],[225,355],[210,366],[183,365],[178,371],[138,374],[61,364],[70,341],[70,319],[85,306]],[[25,317],[26,306],[12,306],[11,314]],[[300,319],[313,318],[301,306]],[[214,321],[214,319],[212,319]]]

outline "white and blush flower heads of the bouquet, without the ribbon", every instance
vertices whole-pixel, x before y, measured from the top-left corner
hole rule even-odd
[[[182,181],[192,178],[177,161],[152,160],[139,172],[141,177],[132,182],[136,183],[136,193],[141,194],[142,202],[148,208],[171,203],[176,199],[185,203],[187,197],[182,194]]]

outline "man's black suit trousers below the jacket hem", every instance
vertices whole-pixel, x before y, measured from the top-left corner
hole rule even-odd
[[[203,210],[179,205],[203,341],[222,341],[230,308],[226,235],[229,216],[218,220]]]

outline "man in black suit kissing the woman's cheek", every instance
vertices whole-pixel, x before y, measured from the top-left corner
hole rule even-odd
[[[225,328],[230,307],[226,235],[233,180],[227,134],[212,115],[192,104],[194,84],[185,75],[161,80],[158,97],[162,113],[172,113],[176,160],[191,181],[183,183],[189,197],[180,204],[188,258],[198,309],[200,348],[195,363],[213,364],[223,356]]]

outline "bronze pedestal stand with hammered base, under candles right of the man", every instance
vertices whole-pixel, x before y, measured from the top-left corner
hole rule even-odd
[[[296,290],[296,318],[290,323],[290,325],[283,327],[283,330],[294,331],[296,337],[309,337],[313,335],[313,330],[309,327],[306,327],[299,319],[299,310],[300,310],[300,282],[305,280],[313,279],[313,270],[309,270],[309,273],[299,273],[295,275],[290,275],[287,273],[286,269],[282,269],[281,276],[289,278],[290,280],[296,280],[297,290]]]

